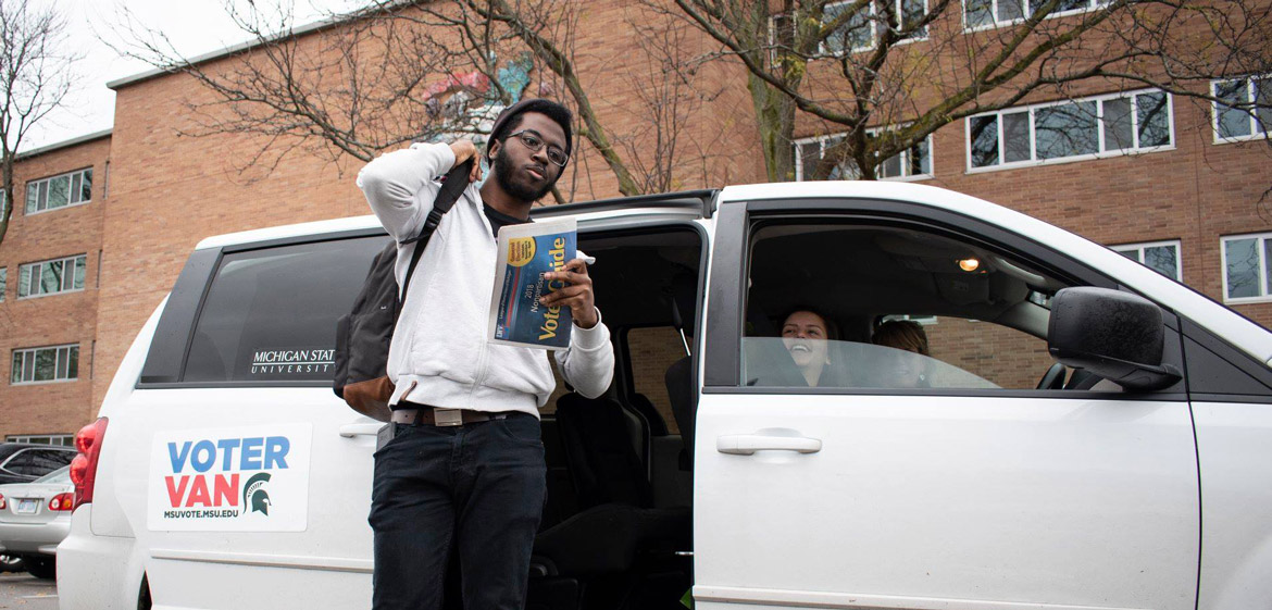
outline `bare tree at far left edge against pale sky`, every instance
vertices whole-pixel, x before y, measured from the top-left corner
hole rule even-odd
[[[66,22],[55,8],[0,0],[0,243],[15,205],[14,162],[27,135],[62,106],[74,83]]]

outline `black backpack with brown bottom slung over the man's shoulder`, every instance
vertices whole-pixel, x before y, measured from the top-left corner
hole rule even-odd
[[[420,256],[429,246],[429,238],[438,229],[441,216],[450,211],[455,200],[468,187],[472,164],[473,159],[469,159],[446,173],[420,233],[401,242],[402,245],[418,242],[407,267],[402,297],[398,298],[398,284],[393,275],[398,242],[389,242],[371,260],[371,270],[368,271],[363,289],[354,301],[354,311],[336,321],[336,377],[332,390],[357,413],[388,420],[388,401],[393,396],[393,381],[388,378],[393,329],[397,327],[397,318],[402,312],[407,288],[411,287],[415,266],[420,262]]]

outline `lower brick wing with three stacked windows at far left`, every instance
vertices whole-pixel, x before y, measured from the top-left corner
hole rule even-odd
[[[23,153],[0,245],[0,434],[67,443],[89,422],[111,132]],[[106,372],[104,374],[109,374]]]

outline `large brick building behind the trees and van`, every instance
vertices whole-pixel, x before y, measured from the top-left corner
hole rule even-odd
[[[612,78],[641,66],[635,53],[626,52],[628,46],[616,41],[623,23],[622,3],[589,3],[577,31],[604,34],[583,36],[577,65],[609,129],[641,134],[646,120],[625,90],[630,83]],[[921,45],[913,43],[915,48]],[[200,61],[209,70],[229,67],[239,61],[230,51]],[[744,82],[745,75],[735,66],[709,64],[697,78],[725,83]],[[1254,96],[1259,83],[1258,76],[1245,79],[1230,90],[1244,87],[1247,96]],[[86,423],[134,335],[201,238],[368,211],[354,185],[357,162],[291,154],[267,174],[244,174],[238,168],[258,140],[178,135],[197,126],[190,103],[212,99],[190,76],[146,73],[111,87],[117,98],[109,138],[97,134],[31,152],[20,163],[23,188],[89,167],[94,180],[92,196],[81,201],[86,205],[36,213],[19,206],[0,246],[0,267],[9,278],[0,303],[0,349],[10,363],[10,382],[0,387],[0,437],[69,434]],[[1047,143],[1029,134],[1044,127],[1040,122],[1048,112],[1065,104],[1099,108],[1100,117],[1137,118],[1118,124],[1093,116],[1089,125],[1075,127],[1089,130],[1093,148],[1047,149]],[[684,168],[677,187],[763,181],[753,124],[744,87],[724,88],[698,108],[683,125],[684,138],[724,153],[702,155]],[[982,136],[972,138],[973,131]],[[801,177],[836,134],[801,124],[798,136],[792,145]],[[1039,93],[1020,107],[955,121],[923,146],[885,163],[883,174],[976,195],[1113,246],[1268,326],[1272,248],[1264,239],[1272,237],[1272,218],[1261,215],[1261,201],[1269,169],[1266,138],[1248,117],[1243,125],[1240,117],[1188,98],[1085,84],[1065,98]],[[580,201],[617,195],[616,180],[586,148],[562,183]],[[18,195],[15,200],[25,201],[24,192]],[[24,266],[81,255],[81,288],[39,298],[19,294]],[[73,285],[80,287],[79,280]],[[927,326],[934,344],[964,344],[973,332],[965,322],[935,322]],[[62,376],[56,360],[60,354],[73,358],[69,349],[53,353],[56,379],[37,381],[13,371],[19,360],[25,365],[27,354],[47,359],[48,349],[71,345],[79,346],[74,381]],[[647,355],[636,372],[637,388],[665,405],[661,374],[675,359],[679,339],[664,329],[644,332],[633,345]],[[1032,354],[1046,362],[1044,353],[1034,349]],[[943,354],[940,348],[935,355],[993,378],[992,362],[976,363],[965,354]]]

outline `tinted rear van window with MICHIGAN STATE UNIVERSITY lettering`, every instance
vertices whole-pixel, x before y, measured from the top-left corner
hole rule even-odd
[[[225,255],[195,325],[187,382],[329,381],[336,320],[388,237]]]

